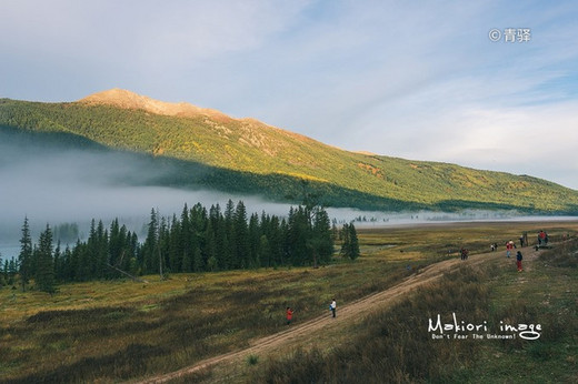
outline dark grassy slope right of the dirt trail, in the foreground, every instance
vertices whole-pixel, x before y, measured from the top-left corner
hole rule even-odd
[[[378,311],[332,348],[298,348],[252,371],[255,383],[575,383],[578,378],[578,240],[556,246],[526,271],[499,259],[461,265],[395,307]],[[536,341],[431,340],[428,319],[540,324]]]

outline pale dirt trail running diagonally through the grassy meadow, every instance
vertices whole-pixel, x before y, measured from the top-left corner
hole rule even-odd
[[[540,251],[536,251],[532,247],[522,249],[525,266],[527,265],[527,261],[536,259]],[[257,338],[251,342],[251,346],[245,350],[210,357],[176,372],[149,377],[140,383],[165,383],[187,374],[199,372],[219,363],[242,361],[249,355],[263,356],[268,353],[286,348],[286,346],[293,343],[293,341],[303,342],[307,340],[312,340],[319,335],[319,332],[331,331],[332,327],[342,326],[343,323],[349,324],[362,320],[376,307],[383,309],[390,306],[396,302],[397,299],[401,299],[412,290],[440,279],[446,272],[451,271],[457,264],[466,263],[469,265],[478,265],[488,260],[499,259],[504,259],[505,263],[511,263],[512,270],[516,269],[516,256],[514,255],[511,259],[506,259],[505,252],[490,252],[470,255],[467,261],[461,261],[460,259],[441,261],[418,271],[417,273],[403,280],[401,283],[386,291],[368,295],[347,305],[338,306],[337,319],[332,319],[328,311],[327,315],[312,319],[301,324],[293,324],[287,331]]]

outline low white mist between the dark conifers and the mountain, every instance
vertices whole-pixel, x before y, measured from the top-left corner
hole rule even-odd
[[[78,146],[78,145],[77,145]],[[109,226],[114,218],[141,238],[151,209],[161,216],[180,215],[185,204],[201,203],[225,208],[230,199],[242,200],[248,214],[262,211],[286,216],[290,204],[225,192],[162,186],[162,166],[143,155],[114,152],[94,143],[80,149],[57,140],[39,140],[31,134],[14,134],[0,127],[0,256],[19,252],[24,218],[29,219],[36,242],[47,224],[56,228],[76,223],[80,239],[86,239],[92,219]],[[176,172],[175,169],[169,169]],[[198,172],[202,172],[202,169]],[[353,209],[328,209],[338,223],[356,221],[358,226],[417,224],[422,222],[499,220],[516,212],[362,212]],[[142,240],[142,239],[141,239]]]

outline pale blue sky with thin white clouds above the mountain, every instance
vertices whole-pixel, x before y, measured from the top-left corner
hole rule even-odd
[[[111,88],[578,190],[576,1],[0,2],[0,98]]]

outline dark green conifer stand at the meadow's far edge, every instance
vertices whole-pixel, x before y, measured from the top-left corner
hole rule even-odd
[[[335,241],[340,254],[359,256],[352,223],[337,229],[327,211],[313,204],[291,206],[287,218],[262,212],[250,216],[242,201],[206,209],[200,203],[180,215],[162,216],[152,209],[143,242],[114,219],[108,228],[92,220],[86,241],[62,246],[47,224],[33,243],[28,218],[21,230],[18,260],[6,261],[0,279],[14,281],[23,291],[54,292],[58,283],[170,273],[212,272],[277,266],[315,266],[331,262]],[[1,267],[1,265],[0,265]],[[0,283],[2,283],[0,281]],[[0,284],[1,285],[1,284]]]

